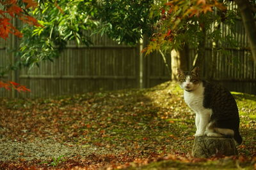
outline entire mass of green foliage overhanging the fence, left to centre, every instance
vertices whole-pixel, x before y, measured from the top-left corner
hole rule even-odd
[[[134,45],[143,34],[152,32],[153,1],[38,1],[31,15],[42,26],[23,27],[17,66],[39,65],[42,60],[60,56],[68,40],[92,45],[90,34],[107,34],[119,43]]]

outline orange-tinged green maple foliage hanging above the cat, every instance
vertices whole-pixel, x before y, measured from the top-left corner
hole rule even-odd
[[[228,10],[227,3],[216,0],[173,0],[166,3],[159,0],[152,9],[150,16],[159,20],[154,24],[155,32],[145,49],[147,54],[154,50],[179,50],[185,43],[200,50],[206,39],[212,45],[218,43],[221,48],[236,46],[234,34],[222,39],[223,32],[218,29],[225,22],[232,32],[236,11]]]

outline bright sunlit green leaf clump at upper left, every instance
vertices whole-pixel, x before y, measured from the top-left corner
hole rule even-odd
[[[95,6],[93,0],[39,1],[32,14],[42,27],[23,27],[20,64],[33,66],[42,60],[52,60],[60,55],[68,40],[90,45],[86,31],[97,24],[92,19],[97,13]]]

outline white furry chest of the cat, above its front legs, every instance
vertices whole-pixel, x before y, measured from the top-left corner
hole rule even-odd
[[[188,104],[189,108],[196,112],[204,109],[204,87],[200,85],[198,89],[192,92],[184,91],[184,100],[186,104]]]

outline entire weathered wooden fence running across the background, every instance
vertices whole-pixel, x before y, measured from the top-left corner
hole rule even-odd
[[[225,25],[220,29],[228,34]],[[225,36],[224,34],[224,36]],[[209,44],[206,48],[204,67],[205,78],[222,83],[229,90],[256,94],[256,64],[250,56],[248,39],[243,24],[237,21],[236,38],[239,48],[228,48],[232,56],[223,57]],[[152,87],[170,80],[170,73],[163,59],[155,53],[142,58],[140,45],[125,46],[106,38],[93,36],[94,46],[76,46],[69,42],[61,56],[54,62],[45,61],[40,67],[10,71],[2,80],[12,80],[26,85],[31,92],[21,93],[0,89],[2,97],[49,97],[81,94],[96,90],[117,90]],[[0,39],[0,67],[12,63],[13,46],[17,39]],[[192,66],[195,50],[189,51]],[[171,57],[167,57],[171,64]]]

